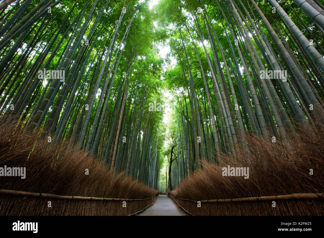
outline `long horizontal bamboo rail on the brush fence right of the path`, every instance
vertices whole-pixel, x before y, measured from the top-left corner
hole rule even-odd
[[[174,198],[170,193],[167,193]],[[291,200],[291,199],[324,199],[324,193],[293,193],[287,195],[278,195],[278,196],[262,196],[262,197],[249,197],[249,198],[227,198],[227,199],[211,199],[211,200],[201,200],[200,202],[248,202],[248,201],[269,201],[269,200]],[[181,200],[187,200],[192,202],[198,202],[195,200],[187,198],[178,198]]]

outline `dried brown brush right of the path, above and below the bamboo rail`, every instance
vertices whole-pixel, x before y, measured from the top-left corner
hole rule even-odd
[[[248,136],[248,149],[240,148],[237,160],[222,154],[220,165],[203,162],[203,169],[168,191],[192,200],[244,198],[292,193],[324,192],[324,130],[318,122],[313,132],[301,125],[298,137],[291,136],[291,148],[277,141]],[[293,133],[290,133],[293,135]],[[249,167],[249,179],[222,176],[222,168]],[[313,175],[310,175],[313,169]],[[172,196],[171,196],[172,197]],[[256,202],[202,203],[174,198],[194,215],[324,215],[324,200],[276,200]]]

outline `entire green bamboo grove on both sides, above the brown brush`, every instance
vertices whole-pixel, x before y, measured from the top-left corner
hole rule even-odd
[[[323,3],[151,2],[0,1],[1,119],[160,191],[323,124]]]

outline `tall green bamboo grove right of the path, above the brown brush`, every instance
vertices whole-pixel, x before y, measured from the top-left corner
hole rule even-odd
[[[297,125],[322,125],[320,2],[185,1],[170,4],[160,18],[178,62],[165,75],[177,105],[169,189],[201,161],[218,164],[224,153],[236,158],[240,146],[248,147],[248,134],[283,143],[289,151],[288,137],[297,137]]]

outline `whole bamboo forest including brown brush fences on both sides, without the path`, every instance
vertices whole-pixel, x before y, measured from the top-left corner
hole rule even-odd
[[[1,0],[0,21],[1,215],[133,215],[159,193],[324,215],[324,2]]]

